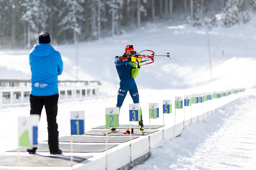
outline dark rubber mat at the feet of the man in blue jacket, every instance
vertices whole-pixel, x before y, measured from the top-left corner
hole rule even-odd
[[[117,145],[111,144],[108,145],[108,149],[116,147]],[[59,144],[59,148],[62,152],[70,152],[70,144]],[[73,144],[73,152],[104,152],[106,150],[105,144]],[[17,149],[7,152],[17,152]],[[22,147],[20,148],[20,152],[27,152],[27,149]],[[36,152],[49,152],[49,146],[47,143],[39,143]]]

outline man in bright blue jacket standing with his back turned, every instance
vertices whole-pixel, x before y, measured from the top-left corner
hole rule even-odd
[[[61,154],[59,149],[59,132],[56,116],[58,112],[58,75],[61,75],[63,63],[58,51],[50,45],[47,32],[39,34],[39,44],[34,45],[29,53],[31,69],[30,114],[41,116],[45,106],[48,123],[48,145],[50,154]],[[37,148],[27,150],[36,153]]]

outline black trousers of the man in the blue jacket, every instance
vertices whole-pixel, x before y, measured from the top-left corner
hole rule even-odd
[[[59,150],[59,132],[56,116],[58,112],[59,94],[51,96],[33,96],[30,95],[30,114],[39,114],[41,116],[42,108],[45,105],[45,111],[48,123],[48,145],[50,152]],[[27,150],[28,152],[36,151],[37,148]]]

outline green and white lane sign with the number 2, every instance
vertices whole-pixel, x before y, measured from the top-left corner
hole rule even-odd
[[[106,128],[119,127],[119,107],[109,107],[105,109],[106,113]]]

